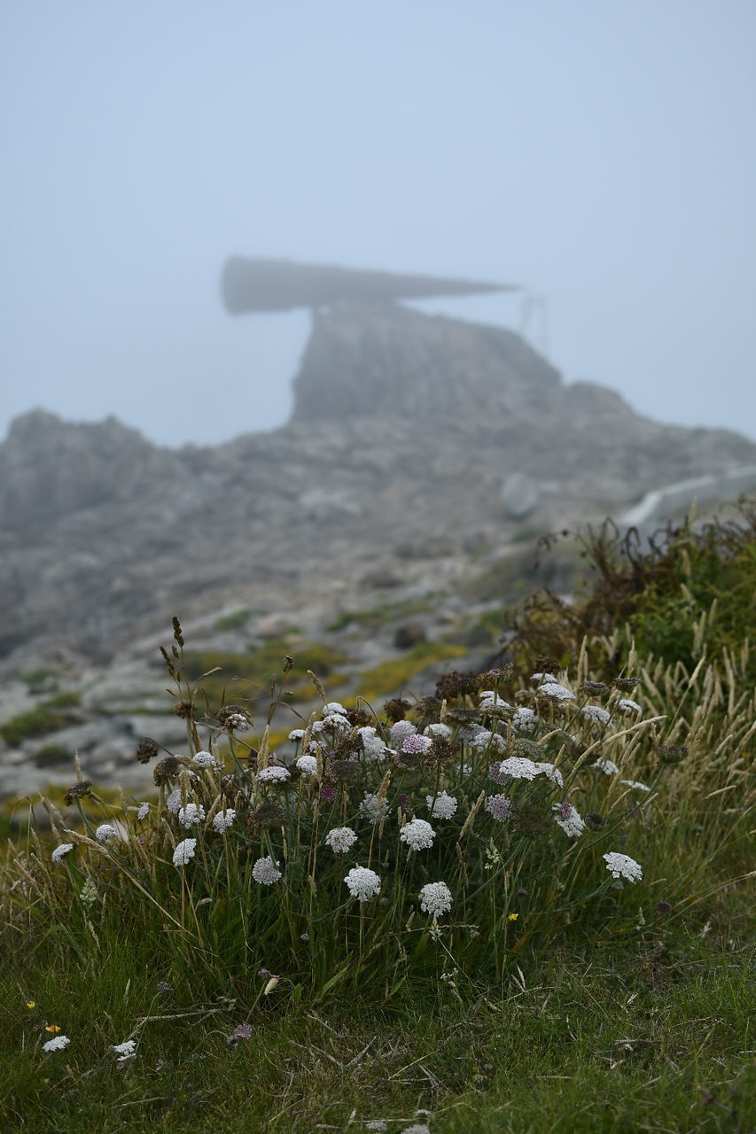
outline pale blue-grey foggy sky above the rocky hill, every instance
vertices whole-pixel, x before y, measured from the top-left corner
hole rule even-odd
[[[568,381],[756,438],[755,50],[751,0],[10,0],[0,435],[283,423],[309,316],[229,318],[238,253],[520,285]]]

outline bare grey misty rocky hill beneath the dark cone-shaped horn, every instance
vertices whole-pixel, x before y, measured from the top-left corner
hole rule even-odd
[[[524,517],[547,528],[756,465],[736,433],[565,384],[512,331],[390,303],[316,313],[294,392],[287,425],[212,448],[160,448],[114,418],[17,418],[0,445],[6,667],[104,659],[175,611],[417,583],[413,565],[459,567]]]

